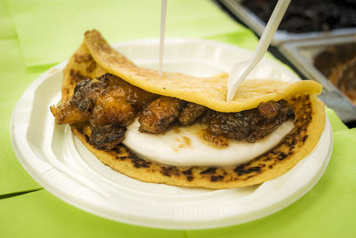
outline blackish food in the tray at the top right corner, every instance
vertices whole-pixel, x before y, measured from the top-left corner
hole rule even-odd
[[[244,0],[242,4],[264,22],[270,19],[278,0]],[[291,33],[328,31],[356,27],[356,0],[291,1],[280,30]]]

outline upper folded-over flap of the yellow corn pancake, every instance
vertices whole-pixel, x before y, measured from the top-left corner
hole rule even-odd
[[[299,83],[247,80],[240,85],[235,98],[226,101],[227,78],[195,77],[172,72],[158,75],[157,70],[135,66],[111,48],[96,30],[85,32],[84,42],[102,68],[126,82],[145,91],[195,102],[219,112],[239,112],[257,107],[263,101],[285,99],[295,93],[319,94],[322,89],[320,83],[310,80]]]

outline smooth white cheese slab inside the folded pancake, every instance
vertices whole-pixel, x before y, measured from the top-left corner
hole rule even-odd
[[[224,148],[209,146],[191,127],[160,135],[139,132],[139,127],[137,120],[130,124],[123,143],[143,158],[171,165],[229,166],[247,163],[277,146],[292,131],[294,123],[283,123],[276,131],[255,143],[230,140],[229,146]]]

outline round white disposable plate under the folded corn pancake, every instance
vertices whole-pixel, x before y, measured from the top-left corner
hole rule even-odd
[[[158,40],[115,45],[143,67],[157,68]],[[251,52],[229,44],[167,39],[166,71],[191,75],[229,72]],[[207,190],[144,183],[111,170],[54,123],[49,107],[61,99],[66,62],[39,76],[22,95],[11,120],[12,146],[20,163],[45,189],[83,210],[125,223],[161,228],[229,226],[261,218],[305,194],[325,171],[332,149],[329,123],[311,155],[279,178],[238,189]],[[285,67],[263,59],[250,78],[299,80]]]

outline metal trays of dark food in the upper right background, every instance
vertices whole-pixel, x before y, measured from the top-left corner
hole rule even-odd
[[[277,0],[216,0],[261,36]],[[323,84],[320,99],[349,127],[356,121],[356,1],[291,1],[269,51],[303,79]]]

